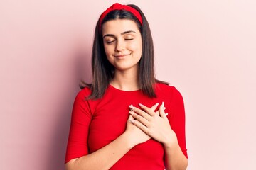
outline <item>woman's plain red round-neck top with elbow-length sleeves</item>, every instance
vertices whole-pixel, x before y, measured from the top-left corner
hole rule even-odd
[[[65,162],[82,157],[108,145],[121,135],[129,117],[129,105],[153,106],[164,101],[171,128],[176,132],[183,154],[186,152],[185,112],[183,98],[174,86],[156,84],[157,98],[148,98],[142,91],[121,91],[109,86],[105,96],[85,100],[90,89],[82,89],[75,98]],[[134,164],[136,162],[136,164]],[[111,168],[164,169],[164,148],[156,140],[148,140],[133,147]]]

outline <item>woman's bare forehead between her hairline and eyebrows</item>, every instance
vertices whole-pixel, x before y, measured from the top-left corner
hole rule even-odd
[[[105,34],[120,34],[127,30],[134,30],[139,33],[137,23],[127,19],[115,19],[105,22],[102,25],[102,35]]]

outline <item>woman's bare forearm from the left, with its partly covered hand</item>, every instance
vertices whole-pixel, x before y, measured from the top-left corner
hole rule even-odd
[[[146,142],[150,137],[142,130],[132,125],[134,120],[129,116],[127,120],[126,131],[117,137],[116,140],[110,144],[98,149],[97,151],[82,156],[80,158],[71,159],[65,164],[67,170],[82,170],[82,169],[110,169],[120,158],[126,154],[129,149],[135,145]]]

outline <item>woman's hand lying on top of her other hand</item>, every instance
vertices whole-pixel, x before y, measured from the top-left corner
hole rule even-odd
[[[144,131],[147,135],[154,138],[164,145],[169,145],[176,142],[176,134],[171,130],[169,120],[164,113],[164,102],[159,107],[159,111],[154,112],[142,104],[139,104],[141,109],[130,106],[132,111],[129,113],[135,119],[132,123]],[[159,112],[159,113],[158,113]]]

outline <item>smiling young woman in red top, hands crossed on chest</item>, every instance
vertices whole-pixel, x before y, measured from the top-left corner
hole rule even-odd
[[[186,169],[183,98],[154,77],[151,32],[137,6],[113,4],[100,16],[92,77],[75,98],[66,169]]]

